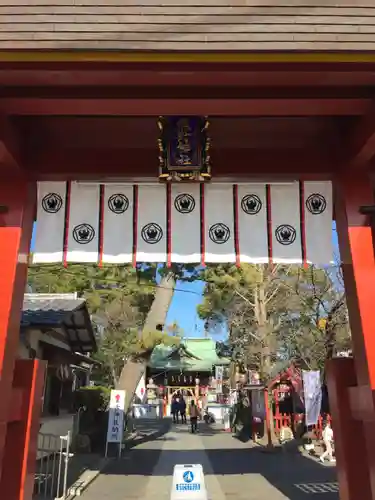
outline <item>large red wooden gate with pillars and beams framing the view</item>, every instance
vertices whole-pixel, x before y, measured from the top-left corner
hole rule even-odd
[[[309,182],[332,182],[354,348],[354,359],[333,360],[328,367],[340,495],[357,500],[360,491],[363,500],[375,499],[371,293],[375,59],[369,56],[356,64],[352,55],[237,54],[234,63],[230,54],[222,59],[210,54],[181,53],[173,58],[146,54],[137,60],[134,54],[127,59],[123,53],[114,60],[102,53],[90,61],[87,54],[70,53],[62,61],[53,53],[39,59],[35,54],[32,63],[27,54],[7,54],[0,68],[0,491],[4,498],[31,498],[41,406],[43,368],[37,360],[16,361],[37,182],[65,187],[75,180],[95,186],[155,183],[158,116],[204,115],[211,121],[212,185],[300,181],[306,187]],[[210,189],[209,184],[204,186]],[[97,213],[103,214],[101,188],[97,189]],[[168,197],[172,188],[165,189]],[[267,205],[267,190],[265,200]],[[238,209],[234,203],[234,215]],[[300,237],[308,230],[301,214],[302,210]],[[63,217],[64,224],[67,220],[71,219]],[[97,220],[100,226],[100,217]],[[267,227],[269,223],[265,234]],[[201,238],[202,227],[196,230]],[[65,225],[63,231],[69,238]],[[86,236],[84,230],[77,239]],[[315,237],[321,235],[317,232]],[[103,238],[95,246],[94,261],[103,254]],[[236,238],[238,234],[231,254],[235,261]],[[298,258],[303,261],[303,249],[312,247],[302,240]],[[58,251],[68,262],[74,248],[61,241]],[[198,253],[206,256],[201,243],[202,239]],[[137,249],[131,249],[130,259],[136,255],[133,250]]]

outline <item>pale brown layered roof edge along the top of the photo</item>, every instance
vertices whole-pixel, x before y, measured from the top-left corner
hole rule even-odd
[[[7,0],[0,50],[373,51],[372,0]]]

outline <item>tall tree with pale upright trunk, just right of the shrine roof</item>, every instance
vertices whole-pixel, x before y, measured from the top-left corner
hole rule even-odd
[[[226,325],[241,361],[263,377],[277,353],[282,313],[291,295],[283,282],[292,272],[292,266],[245,264],[209,266],[202,274],[207,284],[200,317],[210,329]]]

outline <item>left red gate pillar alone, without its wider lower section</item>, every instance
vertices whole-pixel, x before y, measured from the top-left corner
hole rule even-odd
[[[9,476],[3,467],[14,456],[17,448],[8,435],[8,421],[27,278],[27,255],[35,214],[36,185],[2,179],[0,202],[7,207],[0,214],[0,496],[10,500],[21,498],[20,495],[7,495],[3,485],[5,481],[9,482]],[[23,441],[22,449],[25,449],[25,445],[27,443]]]

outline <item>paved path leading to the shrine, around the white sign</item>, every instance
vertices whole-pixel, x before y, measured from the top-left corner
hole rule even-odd
[[[203,465],[212,500],[338,500],[335,468],[298,453],[265,453],[205,426],[157,424],[144,442],[113,461],[83,500],[168,500],[173,466]],[[160,427],[162,425],[162,427]]]

